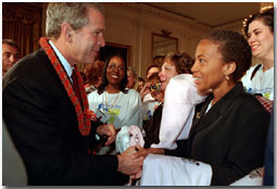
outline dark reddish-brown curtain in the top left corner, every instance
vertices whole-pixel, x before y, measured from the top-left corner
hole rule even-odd
[[[21,56],[39,49],[42,3],[2,3],[2,39],[13,39]]]

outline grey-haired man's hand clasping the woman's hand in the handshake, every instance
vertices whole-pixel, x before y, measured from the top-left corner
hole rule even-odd
[[[131,159],[131,155],[137,153],[136,148],[139,146],[134,146],[125,150],[122,154],[117,155],[118,168],[117,171],[125,175],[136,175],[141,172],[143,164],[143,156],[138,159]]]

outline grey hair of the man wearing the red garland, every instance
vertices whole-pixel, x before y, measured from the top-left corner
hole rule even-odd
[[[104,13],[98,2],[50,2],[47,8],[46,34],[58,38],[61,35],[61,25],[68,23],[74,30],[80,29],[89,23],[88,8],[95,8]]]

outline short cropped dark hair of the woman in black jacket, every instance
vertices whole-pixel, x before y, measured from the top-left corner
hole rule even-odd
[[[225,63],[236,63],[236,71],[231,76],[237,83],[252,64],[252,52],[247,39],[232,30],[213,30],[202,38],[204,39],[218,45],[218,52]]]

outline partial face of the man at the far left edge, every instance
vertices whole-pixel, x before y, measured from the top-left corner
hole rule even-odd
[[[15,62],[20,60],[20,53],[15,47],[2,45],[2,75],[4,75]]]

